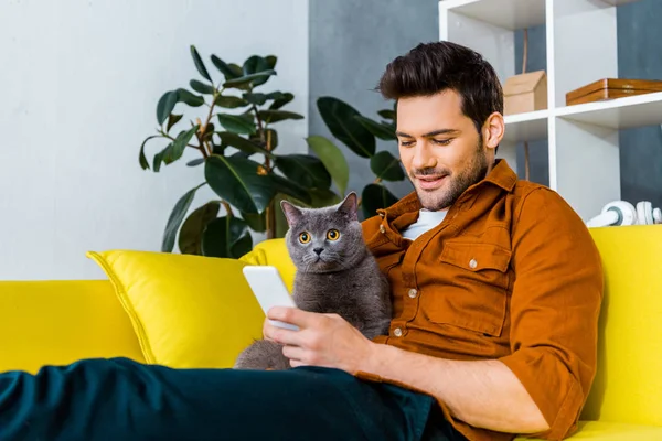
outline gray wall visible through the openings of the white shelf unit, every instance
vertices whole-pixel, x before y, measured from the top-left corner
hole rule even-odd
[[[662,1],[640,0],[617,8],[618,75],[621,78],[662,79]],[[523,32],[515,35],[515,68],[522,71]],[[527,71],[546,68],[545,26],[528,30]],[[621,198],[648,200],[662,206],[662,130],[660,126],[621,130]],[[530,143],[531,180],[549,184],[547,142]],[[523,163],[524,150],[517,149]],[[596,158],[596,163],[599,159]],[[521,168],[521,176],[524,168]]]

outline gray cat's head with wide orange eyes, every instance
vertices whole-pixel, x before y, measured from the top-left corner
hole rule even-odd
[[[302,208],[287,201],[280,206],[289,225],[285,236],[287,248],[299,271],[340,271],[364,256],[356,193],[329,207]]]

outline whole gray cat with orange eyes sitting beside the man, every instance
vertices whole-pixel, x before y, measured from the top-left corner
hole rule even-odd
[[[297,268],[297,308],[337,313],[370,340],[386,335],[392,314],[388,281],[363,240],[356,194],[323,208],[286,201],[280,206],[289,225],[287,249]],[[290,364],[281,345],[258,340],[239,354],[234,367],[281,370]]]

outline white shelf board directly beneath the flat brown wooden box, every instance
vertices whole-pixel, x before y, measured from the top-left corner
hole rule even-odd
[[[560,107],[556,116],[618,130],[662,125],[662,92]]]

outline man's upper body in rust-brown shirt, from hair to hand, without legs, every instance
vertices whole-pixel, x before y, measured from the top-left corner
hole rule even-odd
[[[402,163],[415,192],[364,222],[391,281],[389,334],[374,341],[337,316],[275,310],[265,325],[293,366],[337,367],[423,391],[433,426],[457,439],[563,439],[596,370],[601,263],[579,216],[517,179],[495,153],[503,95],[470,49],[420,44],[386,68]],[[447,434],[450,439],[450,434]]]

